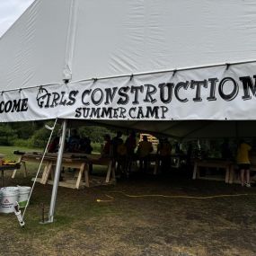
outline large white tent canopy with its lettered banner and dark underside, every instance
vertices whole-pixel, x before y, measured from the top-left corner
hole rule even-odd
[[[255,22],[253,0],[35,0],[0,39],[0,121],[254,136]]]

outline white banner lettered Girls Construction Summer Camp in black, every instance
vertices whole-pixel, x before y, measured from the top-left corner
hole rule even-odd
[[[0,93],[2,122],[256,119],[256,63],[131,75]]]

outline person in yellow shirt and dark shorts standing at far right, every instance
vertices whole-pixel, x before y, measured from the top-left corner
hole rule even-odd
[[[251,187],[250,184],[250,159],[249,151],[252,146],[244,142],[243,139],[240,140],[239,146],[237,148],[236,161],[238,169],[240,171],[241,185],[246,187]],[[244,182],[245,180],[245,182]]]

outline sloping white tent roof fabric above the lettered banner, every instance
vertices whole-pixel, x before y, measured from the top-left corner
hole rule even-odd
[[[0,40],[0,91],[256,59],[255,20],[253,0],[36,0]]]

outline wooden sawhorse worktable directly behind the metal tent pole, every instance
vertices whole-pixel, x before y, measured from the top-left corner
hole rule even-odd
[[[39,152],[22,154],[22,161],[24,162],[40,163],[41,159],[42,154]],[[45,166],[42,176],[38,181],[40,181],[41,184],[52,184],[53,181],[51,181],[50,178],[54,177],[55,167],[57,164],[57,153],[47,153],[43,159],[43,163]],[[79,189],[82,185],[85,187],[90,187],[91,180],[89,164],[106,165],[107,173],[104,182],[109,184],[115,181],[115,168],[110,157],[102,154],[64,153],[61,166],[75,169],[75,173],[71,179],[59,181],[58,185],[73,189]]]

